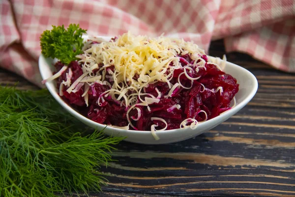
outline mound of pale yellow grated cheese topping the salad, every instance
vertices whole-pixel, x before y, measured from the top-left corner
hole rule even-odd
[[[115,41],[101,39],[100,41],[98,44],[88,43],[91,47],[86,49],[84,54],[77,56],[81,58],[79,62],[89,73],[95,68],[101,68],[102,78],[100,80],[112,79],[115,84],[114,89],[123,91],[124,87],[133,87],[139,92],[139,95],[142,93],[139,91],[142,87],[147,87],[148,84],[157,81],[167,82],[171,87],[169,81],[172,79],[173,71],[181,66],[177,54],[191,53],[195,54],[198,59],[205,54],[204,50],[193,42],[163,36],[150,38],[124,33]],[[103,66],[99,67],[98,65]],[[110,66],[114,66],[114,71],[110,68],[106,69]],[[106,75],[106,72],[109,75]],[[93,81],[88,78],[83,82]],[[125,91],[122,93],[126,94]],[[157,99],[159,98],[160,96],[157,97]]]

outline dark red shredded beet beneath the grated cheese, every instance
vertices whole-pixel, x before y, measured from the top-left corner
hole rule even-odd
[[[179,58],[182,66],[192,64],[193,62],[189,55],[179,56]],[[165,124],[161,121],[151,121],[151,117],[164,119],[168,125],[167,130],[171,130],[178,129],[180,123],[187,118],[193,118],[197,121],[205,120],[205,113],[202,113],[201,110],[207,113],[207,119],[211,119],[230,109],[231,100],[238,92],[239,85],[236,83],[236,79],[219,70],[215,65],[207,63],[207,56],[204,55],[201,58],[206,61],[206,68],[200,67],[198,72],[194,71],[189,73],[189,76],[193,78],[201,76],[198,80],[194,80],[193,84],[191,84],[191,80],[184,74],[179,77],[184,87],[190,87],[192,85],[190,89],[179,88],[173,92],[171,97],[165,97],[170,91],[167,83],[157,82],[145,88],[145,92],[154,97],[158,96],[157,88],[161,93],[161,98],[158,103],[150,104],[148,106],[149,109],[147,106],[137,106],[140,110],[139,120],[134,121],[130,119],[137,130],[150,131],[150,127],[153,124],[158,125],[157,129],[165,127]],[[55,66],[57,70],[60,70],[64,65],[58,62]],[[82,66],[77,62],[72,62],[69,67],[72,70],[71,82],[73,83],[83,74]],[[114,71],[114,66],[111,66],[110,69]],[[97,70],[94,71],[96,72]],[[69,69],[62,73],[57,79],[58,88],[60,83],[66,80],[66,73],[68,72]],[[182,72],[183,69],[175,69],[173,79],[170,82],[172,84],[177,83],[178,76]],[[112,81],[109,81],[109,83],[113,85]],[[80,112],[92,121],[119,127],[128,125],[126,117],[128,108],[124,105],[120,105],[120,101],[103,96],[103,102],[100,104],[98,103],[98,99],[102,93],[110,90],[108,85],[94,83],[89,87],[88,107],[86,106],[85,99],[82,97],[84,94],[84,86],[76,93],[71,92],[69,94],[66,90],[67,87],[63,86],[62,98],[75,108],[81,109]],[[173,107],[176,105],[180,105],[180,108],[177,109]],[[173,110],[167,110],[169,108]],[[129,117],[138,118],[138,116],[138,110],[136,109],[132,109],[129,113]]]

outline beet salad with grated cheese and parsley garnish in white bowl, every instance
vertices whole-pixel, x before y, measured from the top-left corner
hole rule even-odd
[[[223,70],[226,60],[207,56],[193,42],[84,33],[70,25],[41,35],[42,54],[55,67],[42,83],[55,81],[59,97],[95,123],[149,131],[159,140],[159,131],[198,130],[236,105],[239,84]]]

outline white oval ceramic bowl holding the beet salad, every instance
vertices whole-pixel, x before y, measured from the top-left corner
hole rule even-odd
[[[212,57],[211,57],[212,58]],[[47,79],[52,76],[54,71],[54,66],[52,64],[53,60],[51,58],[45,58],[43,55],[39,57],[39,69],[43,79]],[[157,135],[159,140],[155,140],[150,131],[130,131],[122,130],[117,128],[112,128],[110,126],[96,123],[86,118],[85,116],[79,114],[71,106],[66,104],[60,97],[59,91],[56,88],[55,81],[50,81],[46,83],[46,87],[52,96],[59,102],[59,104],[67,110],[70,114],[76,117],[81,122],[85,123],[89,127],[92,127],[97,130],[103,130],[108,135],[112,136],[126,136],[125,141],[135,142],[140,144],[165,144],[172,143],[177,141],[182,141],[185,139],[192,138],[196,135],[200,135],[205,131],[208,131],[220,123],[226,121],[231,116],[236,114],[241,108],[243,108],[256,94],[258,88],[258,82],[255,76],[241,66],[237,66],[233,63],[226,63],[224,71],[228,74],[231,74],[236,78],[237,83],[239,83],[239,91],[236,94],[236,107],[226,111],[225,113],[208,120],[203,123],[199,123],[198,127],[195,130],[190,128],[185,129],[175,129],[175,130],[166,130],[158,131]]]

